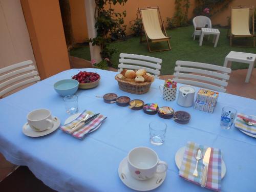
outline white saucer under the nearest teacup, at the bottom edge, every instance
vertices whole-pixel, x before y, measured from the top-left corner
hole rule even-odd
[[[127,157],[125,157],[119,164],[118,167],[118,175],[121,179],[121,181],[131,189],[139,190],[139,191],[147,191],[147,190],[153,190],[157,187],[159,187],[166,176],[166,172],[161,174],[155,174],[155,176],[151,179],[148,179],[146,181],[140,181],[137,179],[134,179],[128,169],[127,166]]]

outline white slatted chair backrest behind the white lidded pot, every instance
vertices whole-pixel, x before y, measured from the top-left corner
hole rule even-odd
[[[185,66],[185,67],[183,67]],[[203,68],[203,69],[198,69]],[[184,84],[190,84],[202,88],[207,88],[214,91],[226,92],[225,87],[229,79],[230,68],[210,65],[207,63],[191,62],[191,61],[176,61],[175,81]],[[210,71],[213,70],[213,71]],[[196,74],[191,74],[196,73]],[[206,76],[203,76],[203,75]],[[211,76],[211,77],[209,77]],[[198,81],[195,81],[198,80]],[[202,82],[204,81],[204,82]],[[210,82],[210,83],[208,83]]]

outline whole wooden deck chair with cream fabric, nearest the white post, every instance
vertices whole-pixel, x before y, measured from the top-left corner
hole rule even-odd
[[[172,48],[170,48],[170,43],[169,43],[170,37],[167,36],[167,33],[165,31],[159,8],[158,7],[147,7],[142,9],[139,8],[139,13],[140,13],[140,18],[143,24],[148,51],[156,52],[156,51],[171,50]],[[160,17],[160,20],[159,20],[159,17]],[[164,33],[162,31],[161,25]],[[152,51],[150,48],[149,40],[151,42],[167,41],[169,49]],[[142,42],[142,36],[140,37],[140,41]]]

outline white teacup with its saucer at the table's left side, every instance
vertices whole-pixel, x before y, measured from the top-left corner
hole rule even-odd
[[[60,125],[57,117],[52,117],[47,109],[37,109],[27,115],[27,123],[23,126],[23,133],[30,137],[41,137],[54,132]]]

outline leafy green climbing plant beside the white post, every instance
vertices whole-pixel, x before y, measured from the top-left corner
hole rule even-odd
[[[123,26],[123,17],[126,16],[126,12],[115,12],[111,8],[111,5],[116,5],[117,3],[124,5],[126,2],[127,0],[95,0],[95,28],[97,29],[97,36],[89,41],[92,42],[93,46],[100,46],[102,59],[106,57],[111,58],[113,53],[117,51],[115,48],[110,48],[109,46],[113,37],[111,34],[114,33],[116,35],[115,37],[119,37],[119,34],[125,34],[124,31],[126,28],[126,26]],[[105,5],[109,5],[110,8],[104,8]],[[111,64],[111,62],[108,63]]]

